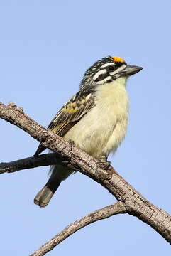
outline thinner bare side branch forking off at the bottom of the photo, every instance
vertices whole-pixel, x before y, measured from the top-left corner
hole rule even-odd
[[[99,210],[95,210],[93,213],[89,213],[84,218],[81,218],[80,220],[77,220],[74,223],[68,225],[64,230],[62,230],[59,234],[55,235],[54,238],[46,242],[45,245],[41,246],[30,256],[45,255],[50,250],[53,250],[56,245],[59,245],[60,242],[75,233],[77,230],[84,228],[85,226],[94,223],[97,220],[103,220],[119,213],[126,213],[126,206],[122,202],[114,203],[111,206],[106,206]]]

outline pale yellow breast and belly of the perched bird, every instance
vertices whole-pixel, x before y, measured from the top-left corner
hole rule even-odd
[[[116,151],[126,134],[128,95],[126,78],[99,85],[96,106],[65,134],[76,146],[99,158]]]

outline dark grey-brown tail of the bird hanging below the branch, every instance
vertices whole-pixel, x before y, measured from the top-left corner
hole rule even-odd
[[[44,208],[50,202],[50,199],[53,197],[55,191],[60,186],[61,179],[49,179],[45,186],[37,193],[34,198],[34,203]]]

